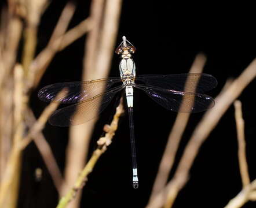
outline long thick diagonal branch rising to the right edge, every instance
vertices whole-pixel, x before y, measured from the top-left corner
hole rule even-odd
[[[173,206],[174,200],[178,192],[184,187],[188,180],[189,170],[193,161],[198,154],[199,148],[209,136],[210,132],[215,128],[222,115],[226,112],[233,101],[241,94],[244,88],[256,76],[256,60],[243,71],[243,73],[233,81],[233,83],[222,91],[215,99],[216,105],[213,109],[204,114],[202,121],[198,124],[189,140],[178,168],[174,174],[173,179],[153,200],[147,207],[160,207],[165,204],[165,207]]]

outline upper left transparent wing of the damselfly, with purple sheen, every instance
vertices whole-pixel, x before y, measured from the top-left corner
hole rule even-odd
[[[50,84],[38,92],[38,98],[45,102],[52,102],[58,92],[67,88],[68,94],[58,102],[69,104],[86,101],[108,90],[113,84],[120,82],[120,78],[98,79],[93,81],[74,81],[67,83]]]

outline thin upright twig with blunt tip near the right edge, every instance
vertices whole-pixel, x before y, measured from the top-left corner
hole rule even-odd
[[[242,116],[242,103],[237,100],[234,102],[234,106],[235,106],[240,174],[242,177],[243,187],[246,187],[246,185],[250,184],[250,177],[249,177],[248,166],[246,162],[246,140],[244,139],[244,120]]]

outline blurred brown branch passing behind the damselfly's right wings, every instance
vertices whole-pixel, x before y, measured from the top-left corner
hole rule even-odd
[[[195,61],[193,62],[191,70],[189,70],[189,73],[202,73],[205,62],[206,62],[206,57],[204,57],[203,54],[197,55],[195,58]],[[187,87],[189,87],[189,83],[186,83],[185,89]],[[192,90],[195,91],[196,88]],[[158,174],[156,175],[155,183],[153,185],[152,193],[151,193],[151,197],[149,198],[149,201],[152,200],[153,197],[156,194],[158,194],[160,190],[164,188],[164,185],[167,182],[171,168],[173,167],[175,154],[180,144],[182,134],[186,128],[186,124],[188,123],[189,116],[190,116],[189,113],[177,114],[177,118],[174,122],[173,128],[171,129],[171,132],[166,144],[166,149],[164,150],[163,157],[159,165]]]

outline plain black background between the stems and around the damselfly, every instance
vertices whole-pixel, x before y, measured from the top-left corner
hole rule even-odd
[[[67,1],[52,1],[43,14],[38,32],[38,49],[47,44],[54,25]],[[116,46],[122,36],[136,46],[134,61],[137,75],[188,72],[196,54],[207,56],[204,73],[218,80],[218,87],[210,91],[217,96],[229,77],[237,77],[256,56],[253,13],[241,5],[204,5],[183,2],[181,5],[163,1],[124,1]],[[74,27],[89,14],[90,1],[77,1]],[[250,6],[250,5],[249,5]],[[250,16],[252,14],[252,16]],[[38,117],[46,107],[36,94],[46,84],[81,80],[85,37],[77,40],[56,55],[38,87],[31,106]],[[114,55],[109,76],[119,76],[119,57]],[[101,78],[101,77],[98,77]],[[243,117],[247,141],[247,161],[251,180],[255,179],[255,96],[253,81],[239,97],[243,103]],[[109,107],[97,122],[90,154],[109,120],[114,108]],[[203,113],[192,114],[181,140],[177,161]],[[145,207],[151,192],[158,165],[176,113],[167,112],[143,92],[134,92],[134,121],[138,152],[140,187],[131,187],[131,158],[127,116],[120,121],[115,138],[97,162],[83,188],[81,207]],[[68,128],[46,125],[43,131],[53,148],[61,169],[65,164]],[[34,144],[24,151],[19,207],[55,207],[57,191]],[[89,155],[90,157],[90,155]],[[34,172],[42,168],[41,181]],[[173,176],[171,172],[171,176]],[[173,207],[224,207],[241,190],[237,161],[236,126],[233,106],[203,144],[190,172],[190,179],[178,195]],[[244,207],[255,207],[247,203]]]

